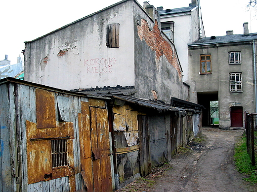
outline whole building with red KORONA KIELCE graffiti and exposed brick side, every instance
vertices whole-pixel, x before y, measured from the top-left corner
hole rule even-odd
[[[154,92],[166,103],[171,96],[188,100],[189,87],[158,11],[144,10],[136,0],[25,42],[24,54],[27,81],[67,90],[134,86],[138,98],[154,99]]]

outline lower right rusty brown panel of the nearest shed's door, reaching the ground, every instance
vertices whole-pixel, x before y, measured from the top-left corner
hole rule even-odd
[[[112,176],[111,176],[111,161],[109,150],[104,150],[100,152],[101,159],[101,183],[102,183],[102,192],[112,192]]]

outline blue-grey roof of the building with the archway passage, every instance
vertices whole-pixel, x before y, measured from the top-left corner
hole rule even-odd
[[[205,37],[194,41],[192,44],[188,44],[188,46],[228,43],[228,42],[244,42],[244,41],[252,41],[252,40],[257,40],[257,33],[249,33],[249,35],[231,34],[231,35],[225,35],[225,36],[215,36],[215,37],[213,36],[212,38]]]

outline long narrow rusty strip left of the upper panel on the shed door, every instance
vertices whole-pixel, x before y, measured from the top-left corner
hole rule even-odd
[[[96,120],[96,108],[90,107],[90,118],[91,118],[91,149],[92,158],[97,160],[100,158],[98,152],[98,142],[97,142],[97,120]]]

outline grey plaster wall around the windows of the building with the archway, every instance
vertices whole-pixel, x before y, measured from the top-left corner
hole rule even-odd
[[[189,47],[190,101],[197,102],[197,93],[218,92],[220,128],[231,126],[230,107],[232,106],[242,106],[243,111],[255,111],[252,48],[251,43]],[[242,64],[228,64],[230,51],[241,51]],[[212,55],[212,74],[200,74],[200,54]],[[229,73],[231,72],[242,72],[242,93],[230,93]]]

